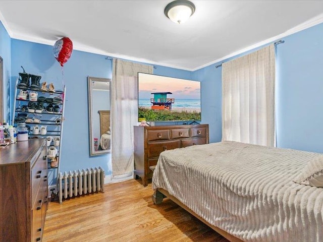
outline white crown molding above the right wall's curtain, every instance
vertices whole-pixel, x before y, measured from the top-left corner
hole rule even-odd
[[[300,32],[300,31],[302,31],[304,29],[308,29],[308,28],[313,27],[313,26],[315,26],[317,24],[320,24],[320,23],[323,23],[323,14],[317,15],[316,17],[314,17],[314,18],[312,18],[312,19],[310,19],[310,20],[308,20],[308,21],[306,21],[306,22],[304,22],[304,23],[302,23],[300,25],[297,25],[296,27],[287,30],[285,33],[276,35],[276,36],[274,36],[272,38],[263,40],[263,41],[258,42],[256,44],[250,45],[250,46],[248,46],[246,48],[243,48],[243,49],[240,49],[240,50],[235,51],[233,53],[230,53],[228,55],[225,55],[225,56],[223,56],[223,57],[221,57],[219,59],[216,59],[215,61],[206,63],[206,64],[204,64],[202,66],[197,67],[197,68],[194,68],[192,71],[194,72],[194,71],[200,70],[200,69],[202,69],[204,67],[208,67],[208,66],[213,65],[213,64],[219,64],[220,62],[225,61],[228,58],[231,58],[231,57],[236,56],[238,54],[242,54],[242,53],[244,53],[246,51],[255,49],[255,48],[260,47],[262,45],[275,42],[275,41],[277,41],[277,40],[279,40],[281,38],[284,38],[286,36],[295,34],[297,32]]]

